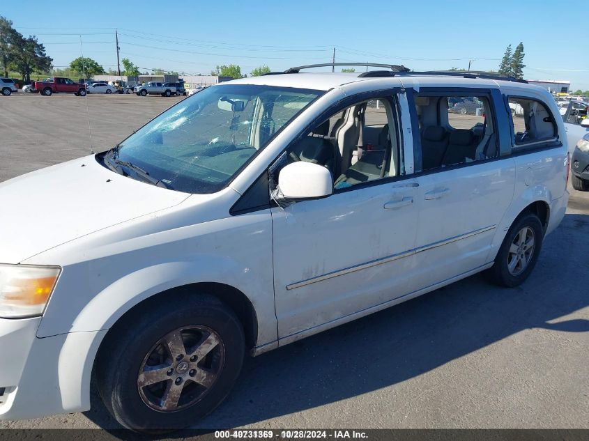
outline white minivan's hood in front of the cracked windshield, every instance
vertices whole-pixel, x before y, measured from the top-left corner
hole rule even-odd
[[[0,183],[0,263],[20,263],[188,196],[125,178],[93,155],[7,180]]]

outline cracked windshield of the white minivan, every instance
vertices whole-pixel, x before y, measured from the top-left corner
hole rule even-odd
[[[206,88],[132,134],[116,158],[169,189],[217,192],[321,93],[245,84]]]

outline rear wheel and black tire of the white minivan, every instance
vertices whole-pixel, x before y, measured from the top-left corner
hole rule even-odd
[[[524,230],[527,233],[526,238],[532,238],[533,236],[533,249],[531,251],[529,246],[518,246],[517,243],[514,243],[519,242],[521,232]],[[522,284],[536,265],[543,240],[544,228],[537,215],[533,212],[525,212],[520,215],[507,231],[507,235],[505,235],[505,239],[497,252],[494,265],[487,270],[489,279],[499,286],[508,288]],[[523,242],[527,242],[527,240],[523,240]],[[512,249],[512,245],[516,248]],[[519,258],[519,256],[525,259],[525,265],[523,265],[523,259]],[[512,270],[510,269],[510,263],[514,263],[514,261],[516,265]]]

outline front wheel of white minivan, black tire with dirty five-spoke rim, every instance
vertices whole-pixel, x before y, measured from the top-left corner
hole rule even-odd
[[[137,314],[125,317],[125,323],[115,325],[98,354],[96,378],[102,401],[116,421],[134,431],[174,431],[194,424],[231,392],[243,364],[243,326],[231,309],[209,295],[169,297],[153,307],[140,307]],[[201,329],[203,334],[199,334]],[[180,346],[168,342],[178,335],[185,358],[171,359],[171,348]],[[217,344],[203,344],[211,336]],[[192,346],[196,341],[199,343]],[[200,350],[210,352],[193,362],[194,355],[188,355]],[[151,361],[154,355],[155,361]],[[146,366],[153,369],[151,375],[159,371],[157,381],[147,383]],[[211,372],[215,374],[207,377]],[[204,380],[199,381],[211,382],[208,387],[190,381],[203,375]],[[164,380],[160,380],[162,376]],[[140,382],[147,384],[141,386]],[[170,399],[171,391],[178,389],[177,401]],[[167,403],[169,408],[162,407]]]

